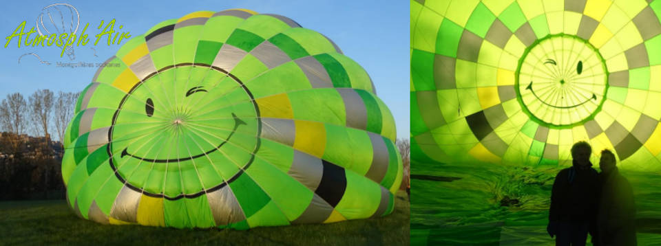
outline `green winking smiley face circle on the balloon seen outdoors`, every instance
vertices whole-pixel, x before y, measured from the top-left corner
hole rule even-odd
[[[221,186],[250,165],[259,146],[251,92],[216,67],[164,69],[136,83],[116,107],[110,164],[118,179],[149,194],[176,199]],[[222,175],[207,177],[213,172]],[[164,185],[189,176],[200,181],[177,189]]]

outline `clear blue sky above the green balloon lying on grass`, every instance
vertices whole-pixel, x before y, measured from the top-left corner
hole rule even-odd
[[[81,32],[90,23],[87,34],[90,43],[74,47],[75,60],[55,47],[17,47],[17,38],[8,47],[10,36],[22,21],[27,21],[25,32],[36,26],[41,10],[53,1],[11,1],[3,3],[0,14],[0,98],[8,93],[20,92],[24,96],[36,89],[53,91],[81,91],[89,84],[95,67],[56,67],[56,62],[103,63],[114,55],[120,45],[93,45],[96,28],[101,20],[116,19],[123,25],[120,31],[137,36],[160,21],[176,19],[199,10],[220,11],[228,8],[247,8],[260,13],[287,16],[303,27],[320,32],[332,39],[344,54],[362,65],[377,88],[397,124],[397,136],[409,135],[409,5],[407,1],[69,1],[81,15]],[[48,22],[48,21],[45,21]],[[32,37],[31,37],[32,38]],[[30,39],[31,39],[30,38]],[[94,50],[92,49],[94,48]],[[51,65],[39,63],[34,56],[21,55],[34,52]],[[96,56],[94,56],[96,54]]]

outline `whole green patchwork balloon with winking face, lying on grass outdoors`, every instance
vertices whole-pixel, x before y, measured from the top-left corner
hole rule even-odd
[[[395,122],[326,36],[276,14],[193,12],[107,64],[65,136],[79,216],[247,229],[392,212]]]

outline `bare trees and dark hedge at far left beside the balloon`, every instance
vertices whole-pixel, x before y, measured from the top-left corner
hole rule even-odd
[[[0,102],[0,200],[64,197],[63,137],[78,95],[39,89]]]

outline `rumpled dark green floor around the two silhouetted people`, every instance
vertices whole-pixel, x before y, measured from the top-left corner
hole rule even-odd
[[[554,245],[546,232],[558,167],[412,164],[411,245]],[[638,245],[661,245],[661,176],[622,172],[636,199]],[[503,201],[509,201],[503,205]],[[512,202],[516,201],[516,202]]]

